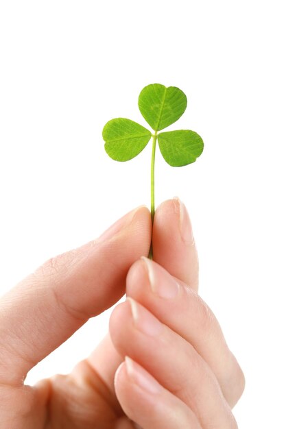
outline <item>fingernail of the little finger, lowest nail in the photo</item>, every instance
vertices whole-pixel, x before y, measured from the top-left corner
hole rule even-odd
[[[141,389],[148,393],[158,393],[160,391],[160,384],[158,384],[145,369],[138,365],[138,363],[128,358],[128,356],[125,357],[125,363],[126,371],[132,382],[138,384]]]

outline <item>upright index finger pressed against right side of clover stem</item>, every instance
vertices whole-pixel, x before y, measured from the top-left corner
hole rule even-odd
[[[180,199],[169,199],[156,209],[152,243],[154,260],[197,291],[198,254],[191,221]]]

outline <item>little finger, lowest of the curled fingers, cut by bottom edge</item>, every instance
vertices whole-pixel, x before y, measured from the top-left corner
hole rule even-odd
[[[128,357],[117,370],[115,391],[126,415],[143,429],[202,429],[184,402]]]

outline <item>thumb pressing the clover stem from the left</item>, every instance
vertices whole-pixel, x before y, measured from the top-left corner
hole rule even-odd
[[[115,304],[132,263],[150,247],[150,212],[139,207],[99,239],[51,258],[0,300],[0,383],[29,369],[90,317]]]

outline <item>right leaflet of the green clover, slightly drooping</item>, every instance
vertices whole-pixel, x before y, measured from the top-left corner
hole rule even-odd
[[[158,134],[158,144],[163,158],[172,167],[195,162],[204,149],[202,137],[190,130],[162,132]]]

